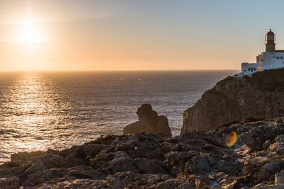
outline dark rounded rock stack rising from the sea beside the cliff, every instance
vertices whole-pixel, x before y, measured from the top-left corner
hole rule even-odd
[[[153,132],[172,136],[168,125],[168,118],[158,115],[152,109],[151,104],[143,104],[137,110],[138,122],[133,122],[124,128],[124,134],[138,134]]]

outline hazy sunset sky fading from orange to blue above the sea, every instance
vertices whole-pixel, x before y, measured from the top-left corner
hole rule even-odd
[[[281,0],[0,0],[0,71],[240,69]]]

